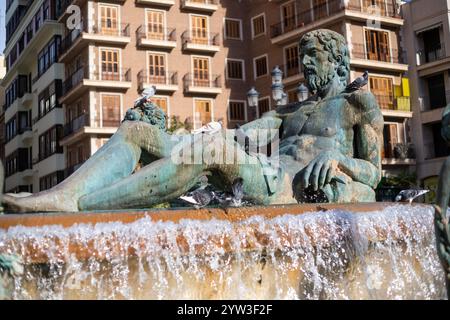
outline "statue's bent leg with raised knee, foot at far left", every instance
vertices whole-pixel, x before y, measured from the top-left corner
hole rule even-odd
[[[129,176],[142,150],[155,158],[169,154],[168,136],[147,123],[126,121],[102,148],[59,185],[28,197],[5,195],[3,202],[10,211],[78,211],[81,196]]]

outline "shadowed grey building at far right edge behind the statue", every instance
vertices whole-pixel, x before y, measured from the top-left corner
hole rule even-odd
[[[441,119],[450,103],[450,1],[415,0],[402,6],[405,48],[411,78],[413,139],[420,183],[436,189],[450,149],[441,137]],[[433,201],[434,193],[429,195]]]

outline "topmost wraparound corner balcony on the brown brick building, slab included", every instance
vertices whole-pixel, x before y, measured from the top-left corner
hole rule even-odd
[[[70,61],[89,42],[119,46],[125,46],[131,42],[129,24],[116,24],[112,28],[99,26],[98,22],[92,22],[90,24],[92,26],[88,26],[86,21],[82,21],[80,28],[72,30],[61,41],[59,62]]]

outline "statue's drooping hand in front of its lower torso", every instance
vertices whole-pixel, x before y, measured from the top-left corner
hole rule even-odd
[[[302,189],[311,186],[318,191],[337,178],[336,169],[344,156],[338,151],[325,151],[311,161],[301,172],[300,184]]]

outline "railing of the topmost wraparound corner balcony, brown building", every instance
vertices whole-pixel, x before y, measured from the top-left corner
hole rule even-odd
[[[88,28],[86,20],[80,22],[79,28],[73,29],[62,41],[59,49],[59,55],[66,53],[75,43],[75,41],[82,35],[83,32],[91,35],[103,35],[112,37],[129,37],[130,36],[130,24],[111,24],[108,25],[108,21],[94,21],[91,30]]]

